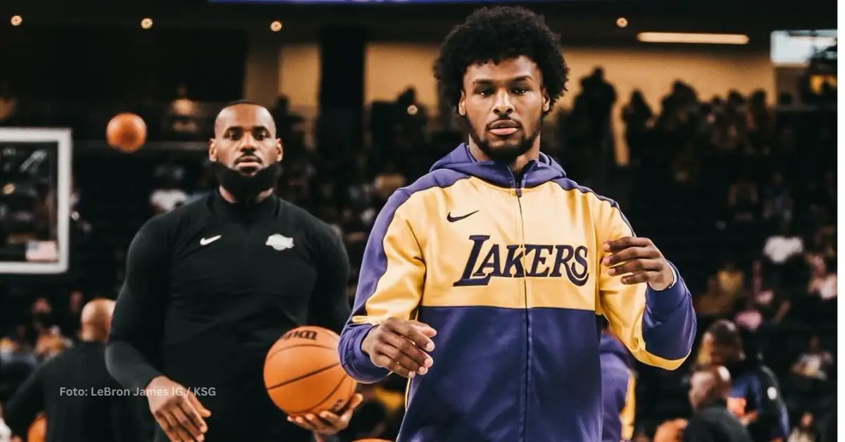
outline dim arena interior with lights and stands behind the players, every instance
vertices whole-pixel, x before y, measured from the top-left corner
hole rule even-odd
[[[221,103],[272,109],[286,149],[279,193],[336,226],[353,267],[386,196],[461,140],[432,64],[474,4],[173,3],[0,3],[0,127],[69,128],[73,139],[64,178],[48,164],[22,182],[20,159],[0,154],[0,250],[12,250],[0,260],[58,259],[14,250],[55,240],[62,222],[58,249],[69,246],[67,271],[0,273],[0,403],[25,375],[9,367],[73,345],[79,306],[116,297],[138,227],[213,188],[204,150]],[[525,4],[561,34],[571,68],[543,150],[617,199],[679,265],[700,332],[717,318],[743,327],[781,382],[796,434],[812,433],[836,404],[836,2]],[[654,32],[740,44],[642,34]],[[144,118],[140,150],[106,145],[117,112]],[[47,190],[25,194],[36,182]],[[21,194],[39,196],[9,202]],[[21,230],[26,220],[58,227]],[[636,434],[650,440],[689,416],[689,368],[637,371]],[[350,436],[395,434],[404,384],[394,380],[364,389]]]

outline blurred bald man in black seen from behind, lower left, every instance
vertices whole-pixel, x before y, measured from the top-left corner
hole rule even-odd
[[[95,299],[80,318],[79,343],[49,359],[19,387],[6,409],[12,434],[25,436],[39,412],[47,442],[146,442],[152,419],[143,399],[106,370],[106,337],[114,301]]]

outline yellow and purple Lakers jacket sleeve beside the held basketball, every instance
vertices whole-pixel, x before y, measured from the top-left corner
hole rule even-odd
[[[352,317],[339,346],[343,368],[358,382],[378,382],[390,374],[361,349],[369,330],[384,319],[412,319],[423,297],[426,267],[411,226],[410,197],[403,189],[390,196],[364,248]]]

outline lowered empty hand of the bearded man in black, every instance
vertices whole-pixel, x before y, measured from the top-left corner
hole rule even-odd
[[[204,417],[211,416],[211,412],[190,390],[166,376],[151,380],[144,390],[155,422],[169,439],[173,442],[202,442],[205,439],[208,425]]]

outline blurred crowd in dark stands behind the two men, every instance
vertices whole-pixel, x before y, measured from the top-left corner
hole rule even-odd
[[[784,442],[819,440],[837,382],[835,109],[796,109],[789,96],[769,106],[761,91],[704,97],[681,81],[667,85],[670,93],[653,108],[639,91],[617,96],[610,81],[601,69],[581,79],[574,106],[547,118],[542,149],[575,181],[617,199],[637,234],[679,267],[700,335],[717,319],[739,326],[745,352],[777,376],[792,431]],[[14,103],[3,100],[0,111]],[[148,123],[153,141],[202,141],[209,120],[199,106],[180,90],[172,103],[138,113],[161,123]],[[285,145],[278,193],[345,238],[352,301],[381,205],[462,141],[461,122],[429,119],[406,90],[374,103],[367,142],[347,149],[329,145],[325,124],[307,145],[303,118],[284,98],[272,112]],[[614,127],[613,112],[622,112],[622,127]],[[0,112],[0,124],[9,114]],[[614,160],[620,131],[630,157],[624,166]],[[86,300],[116,296],[138,227],[214,188],[204,151],[80,150],[74,176],[68,275],[0,283],[0,324],[9,325],[0,330],[0,402],[39,361],[73,345]],[[658,428],[690,416],[690,368],[698,361],[696,345],[677,371],[635,366],[635,440],[673,440]],[[362,389],[366,401],[348,435],[394,437],[405,382],[394,376]]]

